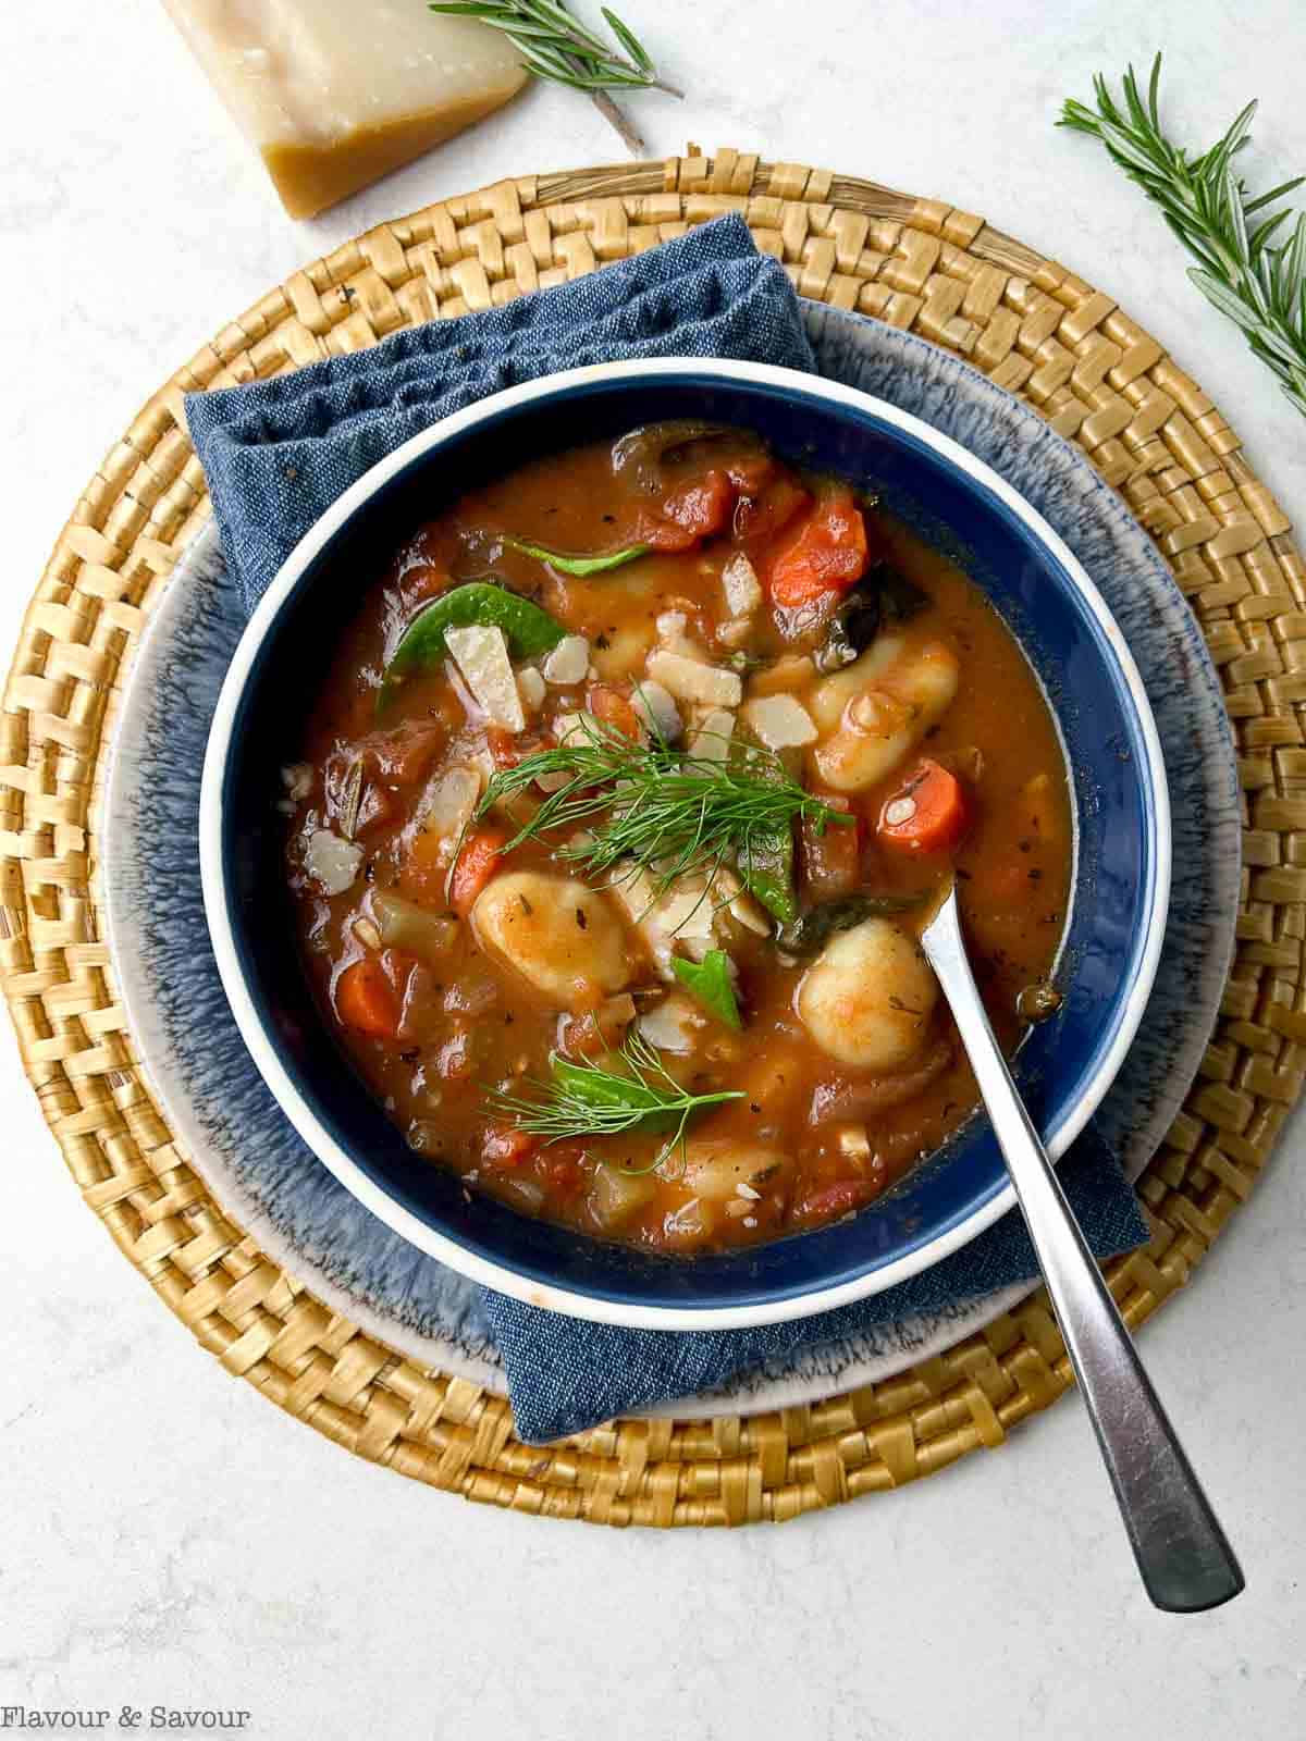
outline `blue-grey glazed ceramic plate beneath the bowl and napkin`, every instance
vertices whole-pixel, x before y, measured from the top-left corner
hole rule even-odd
[[[1240,818],[1233,742],[1202,634],[1120,498],[1047,423],[911,334],[810,306],[822,374],[911,411],[986,460],[1101,587],[1148,684],[1165,747],[1181,867],[1148,1013],[1097,1126],[1137,1175],[1196,1074],[1233,951]],[[110,937],[151,1088],[219,1203],[334,1311],[406,1354],[503,1393],[477,1288],[409,1247],[308,1153],[265,1088],[226,1006],[197,862],[209,721],[244,622],[218,540],[181,559],[141,639],[104,808]],[[679,1417],[815,1402],[885,1379],[982,1328],[1029,1287],[804,1349]]]

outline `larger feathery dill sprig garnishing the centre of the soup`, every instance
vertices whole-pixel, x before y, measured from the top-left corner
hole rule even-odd
[[[710,888],[731,860],[751,883],[754,869],[771,865],[777,837],[796,820],[806,818],[822,832],[831,822],[853,822],[791,780],[770,750],[731,742],[724,761],[709,761],[672,749],[660,735],[641,743],[590,714],[576,716],[564,743],[500,770],[477,817],[542,776],[566,783],[545,797],[505,851],[585,825],[578,841],[559,848],[559,858],[594,876],[618,872],[618,881],[648,870],[658,893],[700,870]]]

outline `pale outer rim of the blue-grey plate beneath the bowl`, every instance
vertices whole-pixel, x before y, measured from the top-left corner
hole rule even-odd
[[[1134,559],[1144,569],[1149,571],[1153,581],[1161,588],[1163,599],[1161,606],[1168,611],[1177,611],[1181,616],[1177,622],[1182,625],[1182,632],[1191,642],[1191,649],[1200,662],[1203,682],[1202,707],[1198,709],[1196,719],[1200,729],[1205,729],[1208,742],[1203,745],[1205,757],[1208,761],[1224,763],[1228,775],[1222,780],[1212,782],[1212,789],[1219,794],[1217,803],[1222,806],[1228,797],[1229,817],[1222,820],[1217,818],[1219,830],[1226,836],[1226,841],[1233,841],[1233,860],[1226,862],[1224,876],[1219,881],[1221,891],[1228,888],[1229,902],[1228,926],[1222,933],[1212,940],[1214,947],[1210,951],[1210,961],[1215,968],[1205,975],[1205,985],[1214,985],[1215,980],[1222,982],[1224,970],[1228,965],[1228,956],[1233,949],[1233,914],[1236,907],[1236,841],[1238,841],[1238,815],[1236,815],[1236,783],[1235,783],[1235,763],[1233,763],[1233,743],[1229,736],[1228,719],[1222,710],[1219,679],[1210,669],[1210,660],[1202,642],[1200,630],[1193,623],[1188,606],[1182,595],[1174,585],[1174,580],[1165,568],[1165,564],[1156,555],[1146,533],[1137,526],[1134,517],[1123,501],[1109,489],[1092,468],[1083,461],[1081,454],[1064,442],[1054,432],[1047,428],[1043,420],[1038,418],[1029,407],[1020,404],[1013,395],[1005,393],[1001,388],[994,387],[984,374],[972,369],[954,355],[939,350],[937,346],[916,338],[914,334],[900,333],[892,327],[885,327],[881,322],[869,320],[862,315],[853,315],[839,310],[831,310],[822,305],[806,306],[808,324],[813,329],[813,338],[818,338],[829,329],[843,329],[857,336],[865,336],[874,333],[879,341],[892,341],[893,346],[904,346],[905,352],[916,355],[928,355],[928,366],[944,376],[956,374],[963,383],[968,383],[972,392],[980,399],[989,399],[998,402],[1005,413],[1024,418],[1031,427],[1036,427],[1041,439],[1052,440],[1057,447],[1064,447],[1071,453],[1083,474],[1092,481],[1092,494],[1095,498],[1095,507],[1116,526],[1116,534],[1127,540],[1134,547]],[[185,588],[188,587],[188,573],[193,569],[197,561],[205,555],[205,547],[209,550],[216,548],[216,533],[212,528],[205,528],[195,543],[186,550],[178,561],[174,576],[169,588],[164,592],[160,604],[151,611],[146,629],[139,641],[134,644],[134,663],[129,674],[124,705],[120,712],[120,733],[115,736],[113,754],[110,761],[110,773],[106,782],[106,801],[104,801],[104,823],[103,839],[110,843],[115,830],[124,825],[124,766],[118,756],[122,731],[127,731],[132,724],[134,716],[139,714],[143,688],[141,674],[148,672],[153,651],[158,642],[171,632],[172,622],[181,611]],[[1158,613],[1160,615],[1160,613]],[[1214,709],[1207,705],[1208,698],[1214,696]],[[1205,716],[1210,714],[1210,719]],[[1205,723],[1205,724],[1203,724]],[[1228,787],[1228,794],[1222,790]],[[1233,836],[1229,836],[1229,825],[1233,827]],[[1214,830],[1212,830],[1214,832]],[[327,1274],[320,1266],[306,1260],[305,1252],[300,1250],[284,1231],[263,1212],[261,1205],[254,1201],[249,1193],[242,1187],[240,1180],[230,1168],[221,1165],[218,1154],[214,1154],[204,1139],[204,1130],[192,1112],[190,1102],[181,1092],[179,1079],[174,1079],[169,1072],[167,1060],[160,1057],[158,1046],[151,1045],[155,1024],[151,1020],[150,998],[151,985],[148,971],[143,970],[143,963],[131,952],[124,951],[120,944],[115,944],[115,858],[108,853],[108,876],[106,876],[106,909],[110,919],[110,944],[115,956],[115,965],[118,978],[122,984],[124,1001],[131,1017],[131,1031],[138,1036],[141,1050],[141,1064],[146,1079],[153,1090],[155,1099],[167,1112],[172,1126],[186,1146],[188,1158],[197,1166],[199,1173],[204,1177],[214,1198],[223,1203],[240,1222],[240,1226],[251,1234],[251,1238],[268,1252],[277,1262],[280,1262],[291,1274],[303,1278],[312,1290],[327,1304],[331,1309],[350,1316],[360,1325],[367,1334],[376,1335],[380,1341],[388,1342],[401,1353],[406,1353],[435,1370],[446,1370],[458,1377],[467,1377],[475,1384],[482,1384],[486,1389],[503,1395],[503,1372],[498,1365],[493,1351],[486,1356],[475,1346],[454,1341],[453,1335],[430,1334],[423,1330],[414,1330],[411,1325],[401,1321],[388,1311],[380,1311],[373,1302],[352,1288],[341,1287],[331,1274]],[[1221,904],[1224,911],[1224,904]],[[1205,1043],[1205,1034],[1215,1015],[1215,998],[1207,998],[1208,1008],[1196,1010],[1196,1020],[1193,1022],[1193,1034],[1188,1038],[1186,1052],[1181,1057],[1181,1071],[1174,1074],[1170,1085],[1170,1093],[1163,1095],[1160,1107],[1153,1107],[1151,1118],[1146,1126],[1146,1142],[1142,1149],[1130,1149],[1128,1172],[1137,1175],[1146,1165],[1151,1144],[1163,1133],[1168,1119],[1172,1118],[1174,1106],[1186,1093],[1191,1076],[1196,1069],[1196,1062],[1202,1053],[1202,1045]],[[1189,1008],[1188,1005],[1184,1006]],[[1200,1032],[1196,1032],[1200,1029]],[[1181,1045],[1182,1053],[1182,1045]],[[160,1067],[164,1065],[164,1067]],[[831,1393],[846,1389],[850,1386],[858,1386],[865,1382],[874,1382],[885,1377],[892,1377],[902,1368],[930,1358],[942,1349],[953,1346],[956,1341],[968,1334],[982,1328],[987,1321],[1001,1316],[1017,1301],[1027,1297],[1036,1283],[1017,1283],[1012,1288],[1001,1290],[1000,1294],[986,1295],[977,1301],[968,1301],[959,1304],[953,1313],[932,1316],[930,1320],[904,1320],[893,1327],[885,1327],[885,1332],[867,1332],[848,1344],[829,1344],[825,1348],[804,1349],[801,1361],[794,1370],[785,1372],[751,1372],[744,1374],[738,1381],[724,1386],[719,1391],[703,1393],[702,1396],[686,1398],[676,1403],[660,1405],[656,1408],[646,1410],[650,1415],[677,1415],[677,1417],[710,1417],[719,1412],[721,1407],[733,1407],[744,1412],[756,1412],[773,1407],[787,1407],[798,1403],[817,1402]],[[886,1334],[893,1334],[892,1346],[885,1348]],[[872,1344],[871,1351],[865,1351],[865,1344]],[[850,1353],[852,1349],[852,1353]],[[829,1361],[829,1367],[825,1365]],[[841,1363],[843,1361],[843,1363]],[[811,1370],[811,1367],[818,1370]]]

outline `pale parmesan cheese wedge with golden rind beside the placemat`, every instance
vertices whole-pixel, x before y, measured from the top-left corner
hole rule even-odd
[[[512,44],[397,0],[164,0],[291,218],[312,218],[489,115]]]

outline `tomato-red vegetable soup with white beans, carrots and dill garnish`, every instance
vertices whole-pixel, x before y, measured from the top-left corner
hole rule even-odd
[[[322,1012],[413,1149],[693,1254],[862,1208],[1055,1010],[1064,757],[979,588],[745,430],[662,423],[421,526],[284,770]]]

